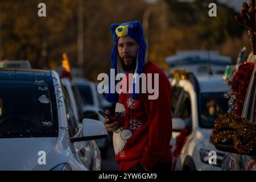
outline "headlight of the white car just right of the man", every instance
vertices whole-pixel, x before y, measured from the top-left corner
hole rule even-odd
[[[216,154],[216,155],[214,155],[214,154]],[[220,154],[216,151],[209,151],[209,150],[205,150],[204,148],[200,149],[201,161],[206,164],[221,167],[223,157],[224,157],[224,154]],[[212,163],[212,161],[213,161],[213,163]],[[216,163],[214,163],[214,162],[216,162]]]

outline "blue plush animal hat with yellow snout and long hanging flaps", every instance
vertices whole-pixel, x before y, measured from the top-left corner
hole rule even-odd
[[[144,39],[143,27],[139,21],[123,23],[121,25],[114,23],[110,26],[110,30],[112,31],[113,40],[114,40],[114,47],[112,49],[111,56],[110,56],[111,63],[112,63],[111,68],[115,69],[115,75],[110,75],[109,93],[106,94],[105,99],[109,102],[115,103],[115,102],[118,102],[119,93],[110,93],[110,85],[112,84],[111,80],[115,80],[112,77],[117,75],[118,38],[129,35],[129,36],[131,36],[131,38],[134,38],[137,41],[137,43],[138,43],[137,66],[136,66],[134,73],[138,73],[138,75],[143,73],[143,65],[144,65],[144,61],[145,61],[147,46],[146,46],[146,42]],[[138,77],[134,77],[133,93],[131,93],[131,98],[133,98],[134,100],[137,100],[139,97],[139,93],[135,93],[135,82],[137,82],[137,81],[138,81]],[[117,81],[115,81],[115,85],[117,85]]]

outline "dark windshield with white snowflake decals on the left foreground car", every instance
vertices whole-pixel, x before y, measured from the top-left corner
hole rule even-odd
[[[0,138],[57,137],[55,102],[47,79],[1,77]]]

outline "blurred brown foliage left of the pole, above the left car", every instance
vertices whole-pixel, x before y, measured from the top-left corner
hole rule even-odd
[[[46,3],[46,18],[38,16],[40,2]],[[61,61],[65,49],[68,53],[76,50],[72,43],[76,37],[73,1],[2,0],[0,6],[3,59],[27,59],[34,68],[47,68],[49,59]],[[76,54],[71,55],[76,59]]]

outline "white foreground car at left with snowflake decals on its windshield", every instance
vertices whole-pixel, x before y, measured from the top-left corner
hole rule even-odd
[[[84,141],[108,133],[93,119],[77,125],[57,73],[0,69],[0,75],[0,171],[93,169],[88,156],[95,144]]]

